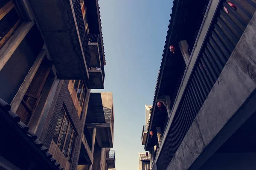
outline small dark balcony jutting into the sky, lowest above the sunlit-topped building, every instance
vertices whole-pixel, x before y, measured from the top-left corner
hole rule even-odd
[[[104,68],[90,67],[88,88],[90,89],[103,89],[104,88],[105,72]]]

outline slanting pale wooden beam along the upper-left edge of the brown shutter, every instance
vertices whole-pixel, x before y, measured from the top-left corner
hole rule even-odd
[[[44,59],[45,54],[46,54],[46,51],[44,49],[42,49],[40,51],[40,53],[38,54],[38,57],[35,59],[34,64],[32,65],[32,67],[29,70],[29,73],[25,77],[25,79],[24,79],[22,85],[20,86],[17,94],[15,95],[15,97],[12,100],[12,103],[11,103],[12,111],[14,111],[14,112],[17,111],[17,108],[19,107],[20,102],[23,99],[23,96],[26,94],[26,91],[29,88],[29,85],[30,85],[32,79],[34,78],[35,73],[38,70],[42,60]]]

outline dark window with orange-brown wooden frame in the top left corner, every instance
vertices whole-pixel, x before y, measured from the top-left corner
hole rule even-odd
[[[19,16],[12,0],[0,0],[0,49],[20,26]]]

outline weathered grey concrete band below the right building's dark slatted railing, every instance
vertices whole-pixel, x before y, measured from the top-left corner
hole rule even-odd
[[[244,104],[256,88],[256,14],[242,35],[217,82],[213,86],[192,126],[180,144],[168,170],[187,170]],[[250,100],[250,103],[253,103]],[[254,102],[255,103],[255,102]],[[255,104],[243,108],[234,125],[245,120],[256,110]],[[251,108],[250,108],[251,107]],[[234,121],[233,121],[234,122]],[[232,122],[229,122],[232,125]],[[227,125],[227,126],[229,126]],[[236,127],[237,129],[238,127]],[[222,143],[236,130],[226,130]],[[231,133],[228,134],[227,133]],[[221,142],[218,142],[221,145]],[[212,148],[211,148],[212,149]],[[218,148],[213,148],[213,154]],[[206,161],[206,160],[204,160]],[[202,162],[201,162],[202,163]],[[196,169],[196,168],[195,168]]]

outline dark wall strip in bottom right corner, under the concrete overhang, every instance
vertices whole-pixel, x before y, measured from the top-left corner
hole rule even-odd
[[[215,153],[199,170],[255,170],[256,153]]]

